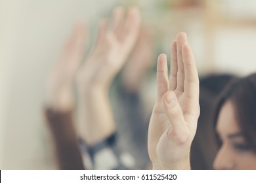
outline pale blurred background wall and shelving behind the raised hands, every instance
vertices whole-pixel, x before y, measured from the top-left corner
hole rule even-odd
[[[200,76],[256,71],[256,1],[0,0],[0,169],[55,169],[43,118],[45,78],[77,21],[93,40],[98,19],[116,5],[138,5],[167,53],[179,31]],[[154,96],[152,96],[154,98]]]

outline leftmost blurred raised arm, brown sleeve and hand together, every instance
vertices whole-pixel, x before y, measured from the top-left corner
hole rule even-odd
[[[77,24],[47,79],[45,116],[51,130],[59,169],[84,169],[74,126],[73,84],[87,42],[83,24]]]

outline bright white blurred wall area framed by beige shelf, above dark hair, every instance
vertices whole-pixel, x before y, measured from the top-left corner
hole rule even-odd
[[[217,71],[239,75],[256,72],[256,26],[219,29],[215,37]]]

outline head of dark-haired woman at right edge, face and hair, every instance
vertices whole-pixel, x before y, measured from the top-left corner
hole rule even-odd
[[[215,169],[256,169],[256,74],[234,80],[215,114],[221,148]]]

